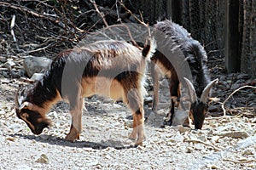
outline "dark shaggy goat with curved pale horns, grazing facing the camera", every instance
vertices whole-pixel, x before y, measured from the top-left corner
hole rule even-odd
[[[193,77],[193,83],[189,79],[179,80],[177,71],[173,66],[173,59],[167,59],[164,54],[160,52],[160,47],[170,48],[162,45],[164,38],[160,37],[155,40],[157,42],[158,50],[154,53],[151,58],[154,65],[151,66],[151,72],[154,83],[154,100],[153,100],[153,111],[157,111],[157,105],[159,100],[159,70],[166,76],[169,82],[170,96],[171,96],[171,111],[167,114],[165,125],[172,125],[172,119],[174,116],[175,102],[179,100],[181,92],[179,89],[179,83],[186,82],[189,88],[191,106],[189,109],[189,117],[195,124],[195,128],[201,129],[206,113],[207,113],[207,97],[210,94],[212,86],[218,82],[218,79],[210,81],[209,73],[207,71],[207,53],[201,46],[201,43],[193,39],[189,32],[182,26],[179,26],[172,22],[172,20],[160,21],[154,25],[154,31],[160,31],[167,38],[171,38],[172,44],[176,44],[185,60],[188,61],[190,71]],[[156,33],[155,33],[156,34]],[[177,49],[176,49],[177,50]],[[172,55],[172,54],[170,54]],[[172,62],[172,63],[171,63]],[[182,65],[176,65],[182,67]],[[183,77],[180,77],[183,79]],[[195,87],[195,88],[194,88]],[[199,98],[198,98],[198,97]],[[178,103],[177,103],[178,105]],[[188,121],[188,119],[187,119]]]

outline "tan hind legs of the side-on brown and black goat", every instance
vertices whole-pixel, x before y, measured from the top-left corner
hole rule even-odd
[[[143,97],[137,89],[131,89],[125,96],[127,98],[124,101],[131,108],[133,115],[133,129],[129,139],[137,139],[135,145],[143,145],[145,139]]]

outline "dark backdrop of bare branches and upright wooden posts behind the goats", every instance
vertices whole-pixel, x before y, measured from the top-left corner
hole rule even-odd
[[[117,0],[95,3],[108,26],[137,23],[127,9],[150,26],[172,19],[206,48],[210,64],[218,65],[212,66],[213,74],[222,67],[224,72],[256,77],[255,0],[123,0],[126,8]],[[90,0],[0,1],[0,55],[53,58],[88,32],[106,26],[103,21]]]

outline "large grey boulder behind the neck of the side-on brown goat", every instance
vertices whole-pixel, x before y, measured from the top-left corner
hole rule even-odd
[[[34,73],[42,73],[49,68],[52,59],[45,57],[27,57],[23,61],[23,67],[26,70],[27,76],[32,77]]]

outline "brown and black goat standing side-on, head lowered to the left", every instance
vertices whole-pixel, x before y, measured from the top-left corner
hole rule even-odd
[[[46,117],[52,105],[61,99],[70,105],[72,124],[66,139],[79,139],[82,131],[83,98],[102,94],[112,99],[123,99],[133,114],[130,139],[136,145],[144,140],[143,82],[147,60],[154,54],[152,48],[143,50],[123,41],[101,41],[67,49],[58,54],[43,79],[33,88],[15,96],[17,116],[26,122],[32,133],[40,134],[49,127]],[[19,91],[19,90],[18,90]]]

